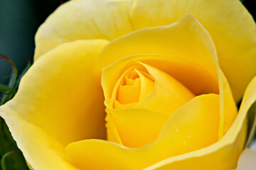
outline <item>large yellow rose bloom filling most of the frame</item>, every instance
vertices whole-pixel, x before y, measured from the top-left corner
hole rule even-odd
[[[256,99],[240,1],[69,1],[38,29],[34,59],[0,108],[31,169],[238,165]]]

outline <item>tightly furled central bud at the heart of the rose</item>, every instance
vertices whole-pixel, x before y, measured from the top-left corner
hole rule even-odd
[[[113,104],[111,100],[105,102],[110,106],[106,110],[107,139],[133,148],[154,142],[172,113],[194,98],[169,74],[142,62],[137,64],[117,81]]]

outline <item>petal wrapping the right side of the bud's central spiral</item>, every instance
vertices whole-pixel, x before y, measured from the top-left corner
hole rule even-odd
[[[176,81],[173,77],[161,70],[143,64],[149,74],[155,79],[155,88],[151,94],[139,102],[136,108],[148,108],[152,111],[161,111],[165,113],[174,113],[183,104],[190,101],[194,95],[186,86]]]

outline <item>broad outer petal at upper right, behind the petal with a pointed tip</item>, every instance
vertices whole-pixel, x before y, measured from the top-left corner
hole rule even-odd
[[[256,24],[239,0],[135,0],[131,21],[135,30],[166,26],[186,13],[197,18],[210,33],[220,67],[236,101],[240,100],[256,74]]]

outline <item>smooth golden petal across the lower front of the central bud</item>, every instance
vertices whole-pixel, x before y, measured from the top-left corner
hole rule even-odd
[[[107,112],[108,119],[112,119],[112,122],[107,123],[108,138],[110,138],[108,140],[127,147],[143,147],[154,142],[169,119],[167,113],[144,108],[107,109]],[[114,132],[113,129],[109,129],[110,124],[118,132],[114,139],[111,138]]]

